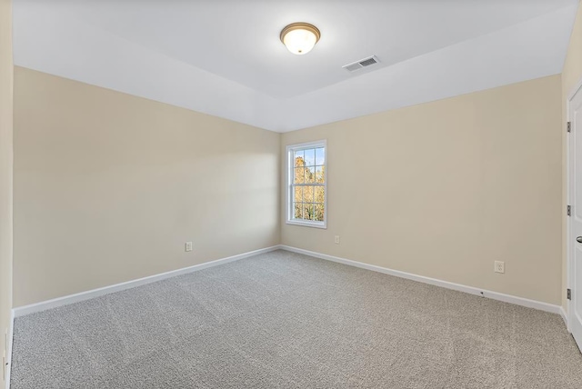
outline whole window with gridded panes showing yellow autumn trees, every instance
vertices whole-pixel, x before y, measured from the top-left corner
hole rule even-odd
[[[287,224],[326,228],[326,141],[286,151]]]

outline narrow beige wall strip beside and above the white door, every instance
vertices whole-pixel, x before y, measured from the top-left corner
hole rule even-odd
[[[582,81],[582,6],[578,5],[578,11],[576,15],[576,22],[574,23],[574,29],[572,30],[572,35],[570,36],[570,45],[567,50],[566,62],[564,64],[564,70],[562,71],[562,95],[561,101],[563,104],[562,110],[562,129],[566,125],[566,106],[567,98],[574,92],[578,83]],[[567,178],[566,178],[566,166],[567,166],[567,133],[562,130],[562,155],[563,155],[563,166],[562,177],[563,177],[563,204],[562,207],[567,205]],[[562,216],[562,228],[564,231],[562,240],[562,306],[567,310],[567,297],[566,297],[566,287],[567,287],[567,217]]]

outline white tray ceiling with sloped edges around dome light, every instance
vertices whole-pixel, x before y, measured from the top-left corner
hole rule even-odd
[[[285,132],[556,75],[577,5],[14,0],[15,64]],[[311,53],[279,41],[293,22],[321,30]]]

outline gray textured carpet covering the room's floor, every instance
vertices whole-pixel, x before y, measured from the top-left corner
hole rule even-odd
[[[20,388],[582,388],[557,314],[276,251],[15,320]]]

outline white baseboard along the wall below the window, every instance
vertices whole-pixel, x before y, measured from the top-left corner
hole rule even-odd
[[[560,305],[542,303],[540,301],[530,300],[530,299],[527,299],[524,297],[517,297],[517,296],[511,295],[511,294],[502,294],[502,293],[497,293],[497,292],[491,292],[491,291],[479,289],[479,288],[476,288],[473,286],[449,283],[447,281],[437,280],[436,278],[429,278],[429,277],[425,277],[423,275],[417,275],[417,274],[401,272],[398,270],[392,270],[392,269],[388,269],[386,267],[376,266],[375,264],[364,264],[361,262],[352,261],[350,259],[340,258],[340,257],[333,256],[333,255],[320,254],[320,253],[316,253],[313,251],[304,250],[301,248],[287,246],[284,244],[279,245],[279,247],[283,250],[290,251],[293,253],[306,254],[309,256],[316,257],[316,258],[326,259],[327,261],[337,262],[339,264],[349,264],[351,266],[360,267],[362,269],[372,270],[372,271],[378,272],[378,273],[390,274],[390,275],[394,275],[396,277],[406,278],[408,280],[416,281],[419,283],[437,285],[437,286],[441,286],[441,287],[444,287],[447,289],[453,289],[453,290],[456,290],[458,292],[465,292],[468,294],[477,294],[477,295],[487,297],[487,298],[490,298],[493,300],[498,300],[498,301],[503,301],[506,303],[527,306],[528,308],[535,308],[535,309],[538,309],[540,311],[551,312],[552,314],[561,314],[562,317],[565,317],[565,314],[566,314],[566,313],[562,314],[561,311],[563,311],[563,309]]]

